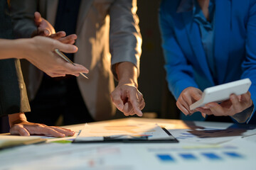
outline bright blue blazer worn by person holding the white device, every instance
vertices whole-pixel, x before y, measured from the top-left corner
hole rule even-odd
[[[163,0],[159,11],[166,79],[177,99],[183,89],[250,78],[249,91],[256,106],[256,0],[215,0],[213,81],[193,11],[178,12],[181,0]],[[253,113],[255,112],[255,108]],[[252,115],[249,123],[256,123]]]

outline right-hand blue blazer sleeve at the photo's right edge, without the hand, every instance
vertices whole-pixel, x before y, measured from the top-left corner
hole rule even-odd
[[[247,21],[247,40],[245,42],[246,57],[242,62],[241,79],[250,78],[250,94],[254,106],[256,105],[256,1],[250,1],[249,17]],[[255,108],[247,123],[256,123]]]

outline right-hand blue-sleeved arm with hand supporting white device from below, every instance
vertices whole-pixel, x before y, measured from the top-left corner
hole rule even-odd
[[[208,115],[230,115],[238,123],[255,122],[256,103],[256,1],[249,4],[247,20],[247,40],[245,43],[245,59],[242,62],[241,79],[249,78],[252,81],[249,91],[241,96],[235,94],[230,96],[228,101],[223,103],[208,103],[207,108],[198,108],[198,111]]]

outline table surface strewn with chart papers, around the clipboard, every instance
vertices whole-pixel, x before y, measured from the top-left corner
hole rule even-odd
[[[74,144],[75,137],[0,151],[0,169],[256,169],[254,125],[125,118],[89,125],[158,124],[178,143]],[[76,132],[85,124],[65,126]]]

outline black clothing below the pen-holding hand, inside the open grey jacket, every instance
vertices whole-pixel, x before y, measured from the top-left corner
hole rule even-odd
[[[30,104],[31,113],[26,113],[26,117],[33,123],[55,125],[60,115],[63,115],[63,125],[94,121],[74,76],[51,78],[44,75],[36,98]]]

